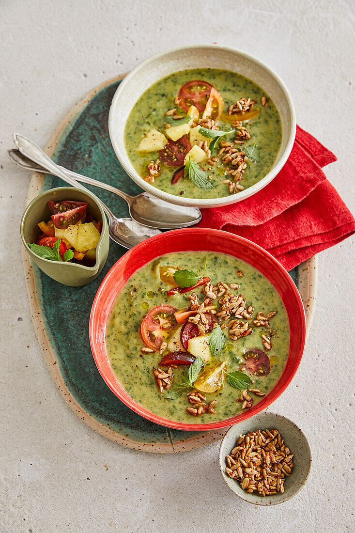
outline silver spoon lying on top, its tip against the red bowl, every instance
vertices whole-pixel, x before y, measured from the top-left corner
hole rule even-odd
[[[72,187],[77,187],[78,189],[81,189],[85,192],[90,192],[88,191],[88,189],[86,189],[86,187],[84,187],[84,185],[78,183],[71,177],[68,177],[66,174],[64,174],[59,167],[56,168],[57,165],[53,163],[52,159],[46,156],[44,152],[35,144],[28,141],[26,137],[14,133],[13,139],[21,154],[25,157],[29,157],[31,160],[36,160],[38,153],[38,159],[41,159],[41,162],[43,162],[46,167],[44,169],[44,172],[56,174],[61,177],[63,181],[66,181],[67,183],[69,183],[69,185],[72,185]],[[39,152],[37,152],[37,150]],[[8,150],[7,154],[9,155],[10,159],[14,161],[14,163],[19,164],[16,158],[13,157],[14,151],[15,150]],[[101,205],[103,211],[108,217],[109,235],[111,239],[114,240],[115,243],[118,243],[123,246],[124,248],[133,248],[133,246],[138,243],[141,243],[143,240],[149,239],[149,237],[161,233],[161,231],[159,231],[158,229],[147,228],[146,226],[143,226],[142,224],[139,224],[135,220],[129,218],[118,219],[99,198],[96,197],[96,201]]]

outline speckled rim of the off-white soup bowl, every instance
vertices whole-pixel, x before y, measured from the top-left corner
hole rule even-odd
[[[179,52],[179,51],[196,50],[196,49],[219,49],[221,51],[228,51],[231,53],[236,53],[238,55],[243,56],[245,59],[248,59],[254,62],[257,66],[261,67],[262,69],[266,70],[271,75],[271,77],[275,79],[281,91],[284,93],[285,100],[288,106],[288,111],[291,116],[291,126],[290,126],[290,133],[288,136],[287,144],[285,146],[284,153],[280,157],[280,160],[277,163],[277,165],[275,165],[275,167],[273,167],[271,171],[263,177],[263,179],[261,179],[259,182],[252,185],[252,187],[249,187],[248,189],[245,189],[244,191],[240,191],[234,195],[229,195],[229,196],[222,197],[222,198],[210,198],[210,199],[197,199],[197,198],[187,198],[187,197],[183,198],[180,196],[178,197],[178,196],[172,195],[165,191],[161,191],[157,189],[156,187],[153,187],[153,185],[143,180],[143,178],[140,177],[138,172],[136,172],[136,170],[134,169],[127,155],[125,144],[124,144],[124,139],[117,139],[114,133],[116,108],[118,106],[120,94],[122,93],[123,89],[127,85],[134,83],[134,78],[135,76],[139,75],[140,70],[143,68],[149,67],[150,63],[157,61],[160,58],[163,58],[165,55]],[[176,69],[174,69],[173,72],[176,72]],[[159,77],[157,77],[157,80],[158,79]],[[250,196],[254,195],[256,192],[259,192],[261,189],[263,189],[265,185],[268,185],[268,183],[270,183],[271,180],[273,180],[274,177],[276,177],[276,175],[280,172],[281,168],[283,168],[283,166],[285,165],[289,155],[291,154],[291,150],[292,150],[292,147],[295,141],[295,136],[296,136],[296,116],[295,116],[295,109],[294,109],[294,104],[291,98],[291,94],[289,93],[286,85],[284,84],[283,80],[281,80],[281,78],[276,74],[276,72],[272,70],[263,61],[255,58],[253,55],[248,54],[247,52],[244,52],[242,50],[237,50],[230,46],[223,46],[223,45],[216,45],[216,44],[195,44],[195,45],[188,45],[188,46],[178,46],[173,49],[165,50],[164,52],[159,52],[157,54],[151,55],[149,58],[145,59],[144,61],[139,63],[136,67],[134,67],[134,69],[131,70],[131,72],[129,72],[129,74],[127,74],[127,76],[119,84],[114,94],[114,98],[112,99],[111,106],[110,106],[108,129],[109,129],[112,147],[115,150],[116,156],[120,164],[123,166],[127,174],[132,178],[132,180],[135,183],[137,183],[142,189],[172,204],[177,204],[177,205],[182,205],[182,206],[193,206],[193,207],[221,207],[221,206],[237,203],[238,201],[244,200],[245,198],[249,198]]]

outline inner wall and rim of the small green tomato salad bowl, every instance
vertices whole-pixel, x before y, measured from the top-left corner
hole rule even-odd
[[[33,254],[31,249],[28,247],[27,243],[36,243],[38,235],[41,233],[41,230],[38,228],[38,223],[42,221],[48,221],[53,214],[48,207],[47,202],[50,200],[77,200],[77,201],[87,201],[90,213],[95,220],[102,220],[102,232],[99,240],[98,247],[96,252],[99,251],[99,246],[101,245],[102,237],[104,230],[107,227],[106,216],[103,213],[102,209],[96,204],[94,200],[94,195],[81,191],[80,189],[75,189],[74,187],[57,187],[55,189],[50,189],[43,192],[41,195],[36,196],[31,203],[26,207],[25,212],[22,215],[21,221],[21,238],[22,242],[25,245],[27,251],[30,254]],[[43,261],[49,261],[41,258]],[[94,266],[84,266],[78,263],[65,263],[66,266],[75,267],[79,269],[95,269],[99,261],[99,254],[96,253],[96,263]],[[53,264],[53,261],[50,261],[50,264]],[[62,265],[61,265],[62,266]]]

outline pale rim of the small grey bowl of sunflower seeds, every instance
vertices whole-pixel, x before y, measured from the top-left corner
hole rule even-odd
[[[298,492],[300,492],[300,490],[303,489],[303,487],[305,486],[306,484],[306,481],[309,477],[309,474],[310,474],[310,471],[311,471],[311,466],[312,466],[312,451],[311,451],[311,447],[309,445],[309,441],[308,439],[306,438],[305,434],[303,433],[303,431],[300,429],[300,427],[298,427],[294,422],[292,422],[292,420],[290,420],[289,418],[286,418],[286,416],[283,416],[283,415],[279,415],[278,413],[271,413],[270,411],[261,411],[260,413],[258,413],[256,416],[265,416],[265,417],[270,417],[270,418],[275,418],[276,419],[276,423],[275,423],[275,429],[278,429],[277,428],[277,421],[281,418],[283,419],[287,424],[290,424],[293,426],[294,429],[296,429],[301,437],[303,438],[303,441],[305,443],[305,446],[306,448],[308,449],[308,452],[309,452],[309,468],[308,468],[308,471],[306,472],[305,474],[305,477],[304,477],[304,480],[303,482],[300,484],[299,487],[297,487],[296,489],[293,489],[292,491],[292,494],[291,493],[288,493],[287,491],[284,492],[283,494],[283,497],[279,497],[278,499],[275,499],[275,501],[273,501],[271,498],[270,499],[267,499],[266,497],[263,497],[263,496],[260,496],[260,502],[259,500],[251,500],[249,499],[249,494],[248,492],[246,492],[245,490],[243,490],[239,483],[236,482],[235,485],[236,485],[236,490],[233,490],[229,484],[227,483],[227,474],[225,474],[225,454],[224,455],[224,451],[223,451],[223,443],[225,440],[227,440],[228,436],[231,434],[231,433],[235,433],[235,437],[236,439],[239,437],[239,432],[238,432],[238,426],[240,424],[243,424],[243,422],[245,421],[241,421],[241,422],[238,422],[237,424],[231,426],[229,428],[229,430],[227,431],[227,433],[225,433],[223,439],[221,440],[221,443],[220,443],[220,449],[219,449],[219,454],[218,454],[218,462],[219,462],[219,466],[220,466],[220,471],[221,471],[221,474],[222,474],[222,478],[223,480],[225,481],[225,484],[227,484],[227,487],[232,491],[234,492],[234,494],[236,496],[238,496],[240,499],[243,499],[244,502],[246,503],[250,503],[252,505],[261,505],[261,506],[270,506],[270,505],[279,505],[281,503],[285,503],[287,502],[287,500],[293,498],[294,496],[296,496],[296,494],[298,494]],[[261,428],[262,429],[262,428]],[[253,493],[252,493],[253,494]],[[280,494],[280,493],[279,493]]]

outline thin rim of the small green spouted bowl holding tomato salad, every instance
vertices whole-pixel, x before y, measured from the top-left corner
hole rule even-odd
[[[76,192],[80,192],[81,194],[83,195],[86,195],[88,196],[89,198],[91,198],[91,200],[94,202],[94,204],[96,204],[96,207],[98,207],[101,215],[102,215],[102,231],[101,231],[101,236],[100,236],[100,239],[99,239],[99,242],[98,242],[98,246],[96,246],[96,252],[99,252],[99,249],[101,247],[101,244],[102,244],[102,240],[103,240],[103,236],[104,236],[104,233],[105,231],[107,230],[107,220],[106,220],[106,215],[104,214],[103,212],[103,209],[101,207],[101,205],[98,203],[98,197],[96,197],[93,193],[91,192],[88,192],[88,191],[83,191],[82,189],[78,189],[76,187],[70,187],[69,185],[67,187],[55,187],[54,189],[47,189],[46,191],[44,192],[41,192],[41,194],[37,195],[33,200],[30,201],[30,203],[26,206],[25,208],[25,211],[23,212],[22,214],[22,218],[21,218],[21,224],[20,224],[20,233],[21,233],[21,240],[22,240],[22,244],[23,246],[25,246],[25,249],[26,251],[28,252],[28,254],[33,257],[33,259],[36,259],[36,260],[41,260],[41,261],[44,261],[44,263],[48,263],[50,265],[53,265],[55,264],[53,261],[51,261],[50,259],[45,259],[45,257],[39,257],[39,255],[35,254],[31,248],[28,246],[27,242],[26,242],[26,239],[25,237],[23,236],[23,232],[25,231],[25,224],[26,224],[26,219],[27,219],[27,215],[29,213],[29,211],[31,210],[32,206],[43,196],[48,196],[50,193],[52,192],[57,192],[57,191],[68,191],[68,189],[70,190],[73,190],[73,191],[76,191]],[[76,269],[79,269],[79,270],[86,270],[88,272],[95,272],[95,270],[98,270],[99,266],[100,266],[100,260],[99,260],[99,254],[96,253],[96,261],[95,261],[95,264],[93,266],[86,266],[86,265],[80,265],[79,263],[69,263],[69,262],[66,262],[66,263],[60,263],[61,266],[63,265],[66,265],[66,268],[76,268]]]

